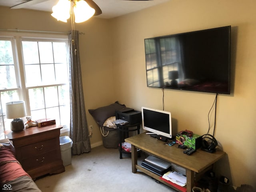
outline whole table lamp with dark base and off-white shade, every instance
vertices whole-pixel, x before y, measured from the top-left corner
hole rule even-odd
[[[6,118],[13,119],[11,122],[12,131],[20,131],[24,129],[24,122],[20,119],[24,116],[26,116],[24,101],[12,101],[6,103]]]

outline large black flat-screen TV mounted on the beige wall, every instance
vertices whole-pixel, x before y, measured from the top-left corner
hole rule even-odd
[[[147,86],[230,94],[231,26],[145,42]]]

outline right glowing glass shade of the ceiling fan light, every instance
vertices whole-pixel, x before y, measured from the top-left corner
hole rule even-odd
[[[95,9],[91,8],[84,0],[76,1],[74,4],[75,22],[81,23],[90,19],[95,13]]]

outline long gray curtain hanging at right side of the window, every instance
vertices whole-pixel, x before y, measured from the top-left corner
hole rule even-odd
[[[78,38],[79,32],[74,30],[71,31],[68,36],[70,73],[70,138],[73,141],[73,155],[90,152],[91,150],[84,105]]]

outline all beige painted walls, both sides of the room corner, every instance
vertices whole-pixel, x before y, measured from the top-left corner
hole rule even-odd
[[[234,186],[256,188],[256,3],[254,0],[170,0],[170,2],[112,20],[92,18],[76,26],[86,110],[115,102],[140,110],[162,109],[162,90],[147,88],[144,38],[219,26],[232,26],[232,94],[218,95],[215,137],[227,153],[216,166]],[[8,16],[8,17],[7,17]],[[0,28],[68,31],[70,24],[56,22],[47,12],[0,7]],[[112,47],[112,48],[111,48]],[[117,91],[114,87],[118,87]],[[214,94],[164,90],[164,110],[173,126],[205,134]],[[87,112],[88,113],[88,112]],[[214,114],[211,116],[213,123]],[[101,142],[96,122],[92,145]],[[212,133],[213,127],[210,129]]]

